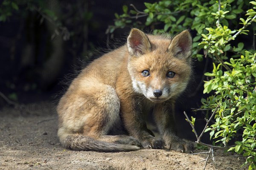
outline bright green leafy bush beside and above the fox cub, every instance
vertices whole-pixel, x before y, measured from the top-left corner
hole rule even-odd
[[[201,108],[212,110],[215,120],[205,132],[215,139],[214,145],[224,147],[238,132],[243,133],[228,151],[247,156],[244,164],[249,164],[249,170],[256,169],[256,1],[161,0],[144,4],[143,11],[123,6],[124,14],[115,14],[115,26],[109,26],[107,33],[146,26],[153,34],[176,34],[186,28],[196,31],[192,57],[199,61],[209,57],[213,65],[212,72],[205,73],[208,80],[204,84],[204,93],[212,95],[201,100]],[[145,22],[138,20],[141,17]],[[252,36],[237,40],[240,34]],[[231,44],[234,41],[236,45]],[[195,123],[195,118],[192,120]]]

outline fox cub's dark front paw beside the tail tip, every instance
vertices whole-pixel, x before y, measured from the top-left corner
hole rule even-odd
[[[161,138],[155,138],[151,135],[144,136],[142,140],[143,148],[152,148],[152,149],[163,149],[164,142]]]

